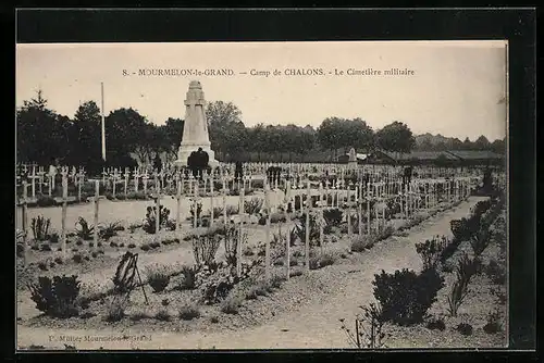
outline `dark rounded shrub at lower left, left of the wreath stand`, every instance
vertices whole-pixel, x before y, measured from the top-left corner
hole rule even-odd
[[[81,281],[72,276],[40,276],[38,284],[29,284],[30,299],[36,302],[36,309],[52,317],[72,317],[78,315],[76,298],[79,295]]]

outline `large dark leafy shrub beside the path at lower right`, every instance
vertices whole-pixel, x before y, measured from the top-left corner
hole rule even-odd
[[[421,274],[404,268],[386,274],[382,270],[372,281],[374,297],[382,306],[382,317],[398,325],[420,323],[429,308],[436,301],[437,291],[444,279],[436,270],[430,268]]]

